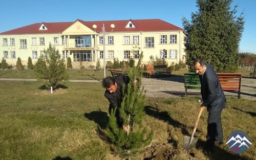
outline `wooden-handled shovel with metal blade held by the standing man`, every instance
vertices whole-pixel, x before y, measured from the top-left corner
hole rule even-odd
[[[194,134],[195,134],[195,132],[197,130],[197,125],[198,125],[198,122],[199,122],[199,119],[201,117],[201,114],[202,114],[203,110],[204,110],[204,108],[201,107],[201,109],[200,109],[200,111],[198,113],[197,121],[195,123],[195,126],[194,126],[194,129],[193,129],[191,137],[185,135],[185,139],[183,141],[183,147],[184,147],[185,150],[190,150],[191,148],[195,147],[196,144],[197,144],[198,138],[194,138]]]

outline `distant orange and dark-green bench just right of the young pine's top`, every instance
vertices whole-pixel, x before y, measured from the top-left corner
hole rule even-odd
[[[147,65],[146,66],[147,77],[164,77],[169,76],[168,67],[166,65]]]

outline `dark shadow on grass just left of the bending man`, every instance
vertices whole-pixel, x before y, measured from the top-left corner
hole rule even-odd
[[[101,110],[84,113],[84,117],[97,123],[101,129],[105,129],[109,122],[108,114]]]

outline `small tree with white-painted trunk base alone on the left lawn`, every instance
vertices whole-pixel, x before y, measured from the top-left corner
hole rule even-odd
[[[35,74],[38,80],[44,80],[47,87],[56,88],[59,82],[69,79],[64,60],[61,59],[59,51],[49,44],[44,50],[44,56],[38,58],[35,64]]]

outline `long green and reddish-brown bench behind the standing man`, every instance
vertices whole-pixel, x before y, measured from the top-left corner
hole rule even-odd
[[[242,74],[239,73],[217,73],[221,87],[223,90],[235,90],[238,92],[240,99],[241,93],[241,78]],[[187,96],[187,89],[201,89],[199,76],[196,73],[184,73],[184,87],[185,96]]]

